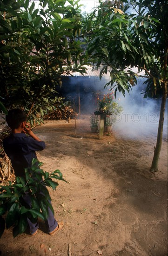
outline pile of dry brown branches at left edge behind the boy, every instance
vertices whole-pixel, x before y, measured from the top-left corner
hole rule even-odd
[[[11,161],[5,154],[2,141],[10,134],[10,128],[5,126],[0,133],[0,181],[9,180],[10,175],[13,174]]]

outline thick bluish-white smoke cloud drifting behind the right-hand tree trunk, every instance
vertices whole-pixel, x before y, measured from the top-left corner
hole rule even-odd
[[[134,139],[140,138],[141,135],[157,136],[161,99],[144,99],[144,94],[141,94],[141,92],[145,91],[145,85],[142,85],[142,83],[143,81],[139,80],[130,94],[126,94],[125,97],[117,93],[123,111],[114,125],[114,130],[121,136]],[[165,111],[163,136],[168,135],[167,108],[168,102]]]

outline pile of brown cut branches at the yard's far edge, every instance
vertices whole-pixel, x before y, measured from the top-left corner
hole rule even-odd
[[[69,106],[66,106],[64,108],[58,108],[54,110],[53,112],[49,113],[45,116],[45,120],[67,120],[69,121],[70,118],[75,117],[78,115],[73,108],[70,108]]]

